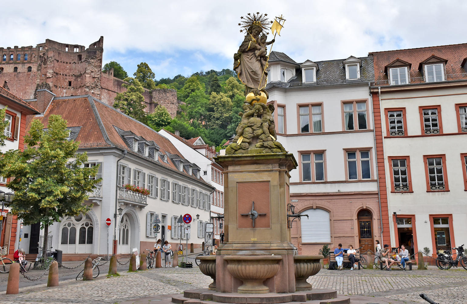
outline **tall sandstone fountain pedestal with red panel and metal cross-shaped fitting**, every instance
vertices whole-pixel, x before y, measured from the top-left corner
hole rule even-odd
[[[216,290],[237,292],[243,282],[228,270],[226,256],[281,256],[276,274],[264,281],[269,292],[295,291],[294,254],[287,228],[292,154],[219,156],[224,167],[224,244],[216,254]],[[254,202],[254,204],[253,204]],[[250,214],[257,213],[255,221]],[[255,216],[253,216],[255,217]]]

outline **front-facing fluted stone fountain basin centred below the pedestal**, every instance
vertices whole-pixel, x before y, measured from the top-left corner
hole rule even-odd
[[[268,293],[264,280],[276,275],[279,270],[280,255],[227,255],[227,270],[243,282],[239,293]]]

